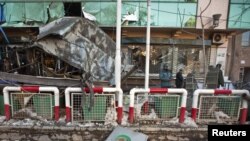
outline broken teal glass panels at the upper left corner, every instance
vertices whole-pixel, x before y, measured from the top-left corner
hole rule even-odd
[[[64,16],[62,3],[5,3],[3,26],[39,26]]]

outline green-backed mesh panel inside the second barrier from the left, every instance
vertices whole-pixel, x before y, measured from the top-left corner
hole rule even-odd
[[[114,94],[95,94],[93,106],[90,108],[89,94],[84,102],[81,93],[72,93],[71,105],[72,122],[105,121],[107,116],[116,114]]]

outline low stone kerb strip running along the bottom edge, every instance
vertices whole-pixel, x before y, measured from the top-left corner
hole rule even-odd
[[[0,126],[0,140],[104,141],[115,127]],[[206,141],[206,128],[126,127],[148,136],[148,141]]]

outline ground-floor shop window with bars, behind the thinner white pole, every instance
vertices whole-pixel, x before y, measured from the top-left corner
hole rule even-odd
[[[137,64],[139,69],[137,73],[145,73],[146,51],[144,46],[133,46],[131,49],[131,64]],[[207,51],[209,52],[209,51]],[[194,72],[197,76],[203,73],[203,54],[202,48],[199,47],[183,47],[183,46],[151,46],[150,51],[150,73],[158,74],[167,64],[173,74],[179,69],[183,69],[183,74]]]

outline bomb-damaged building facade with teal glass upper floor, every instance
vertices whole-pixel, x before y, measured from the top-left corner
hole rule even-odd
[[[182,68],[184,76],[194,73],[203,81],[208,66],[220,63],[228,80],[247,83],[250,60],[244,54],[249,52],[250,21],[244,17],[249,15],[249,4],[152,0],[150,85],[159,86],[163,64],[173,74]],[[91,72],[95,81],[113,83],[116,2],[10,0],[1,4],[1,11],[3,72],[79,78],[83,70]],[[123,82],[142,86],[147,1],[122,1],[121,20]]]

